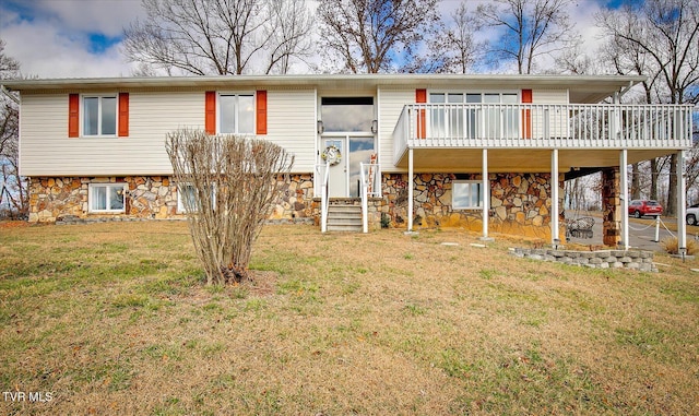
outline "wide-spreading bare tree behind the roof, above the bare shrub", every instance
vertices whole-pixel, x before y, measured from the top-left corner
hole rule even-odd
[[[142,0],[147,19],[125,29],[139,73],[286,72],[308,55],[310,17],[299,0]],[[261,69],[253,62],[265,59]],[[144,67],[145,66],[145,67]]]

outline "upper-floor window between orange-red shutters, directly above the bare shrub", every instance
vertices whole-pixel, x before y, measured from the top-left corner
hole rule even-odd
[[[218,132],[254,133],[254,94],[218,94]]]

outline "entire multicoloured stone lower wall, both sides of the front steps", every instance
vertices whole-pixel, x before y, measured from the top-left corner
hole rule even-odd
[[[283,180],[274,202],[271,222],[320,224],[320,199],[313,198],[311,174],[294,174]],[[414,176],[414,227],[458,227],[482,231],[481,210],[452,210],[454,180],[481,180],[477,174],[417,174]],[[490,219],[493,233],[550,238],[550,175],[490,174]],[[128,186],[123,213],[90,213],[90,183]],[[560,183],[559,183],[560,185]],[[369,228],[407,225],[407,175],[383,174],[382,198],[369,201]],[[560,192],[562,195],[562,191]],[[359,200],[354,200],[359,204]],[[31,178],[29,222],[84,218],[177,219],[177,187],[167,176]],[[559,206],[561,202],[559,201]],[[562,219],[562,218],[561,218]],[[562,224],[562,222],[561,222]],[[561,241],[564,233],[559,233]]]

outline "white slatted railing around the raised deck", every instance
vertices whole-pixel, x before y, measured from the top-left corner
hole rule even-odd
[[[393,130],[407,147],[689,148],[691,105],[411,104]]]

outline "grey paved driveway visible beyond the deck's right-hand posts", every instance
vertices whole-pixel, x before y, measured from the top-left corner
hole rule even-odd
[[[579,214],[579,216],[592,216],[594,218],[594,226],[592,227],[593,237],[592,238],[570,238],[570,241],[579,245],[601,246],[602,245],[602,215],[600,213],[592,213],[592,214]],[[629,218],[629,243],[633,248],[651,250],[651,251],[663,251],[663,248],[661,247],[660,242],[654,241],[655,240],[655,222],[653,222],[650,225],[645,224],[648,223],[649,218],[645,218],[645,221],[639,221],[632,217]],[[663,223],[667,225],[676,224],[676,219],[661,217],[659,241],[662,241],[666,237],[671,237],[671,233],[667,229],[665,229],[665,227],[663,226]],[[697,227],[688,227],[688,228],[692,228],[694,230]],[[695,231],[692,230],[689,230],[689,229],[687,230],[687,238],[697,238]],[[672,231],[672,235],[677,236],[677,233]]]

